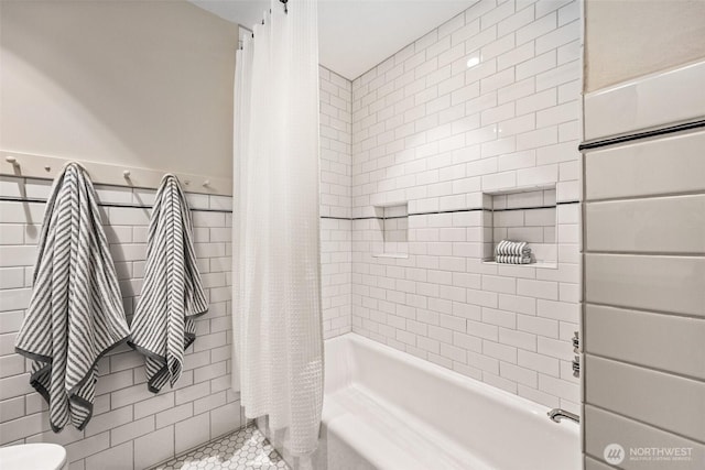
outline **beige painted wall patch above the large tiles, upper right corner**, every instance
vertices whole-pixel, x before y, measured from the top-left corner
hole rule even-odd
[[[703,56],[705,2],[701,0],[585,2],[586,91]]]

